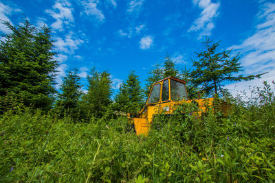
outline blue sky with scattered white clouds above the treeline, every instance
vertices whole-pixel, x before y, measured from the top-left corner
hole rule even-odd
[[[241,53],[243,75],[269,72],[261,80],[226,83],[233,93],[275,79],[275,1],[1,0],[0,19],[17,25],[22,14],[37,27],[52,29],[59,83],[76,67],[86,85],[89,69],[96,66],[111,73],[114,89],[131,70],[144,84],[167,53],[177,69],[192,69],[190,58],[203,50],[206,36],[221,40],[221,50]],[[8,29],[0,25],[0,32]]]

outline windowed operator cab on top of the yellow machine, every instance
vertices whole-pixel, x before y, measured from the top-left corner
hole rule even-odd
[[[146,104],[188,100],[186,82],[176,77],[166,77],[153,84]]]

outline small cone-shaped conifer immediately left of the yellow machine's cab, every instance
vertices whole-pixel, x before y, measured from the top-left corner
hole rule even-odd
[[[142,108],[142,89],[135,71],[131,71],[126,82],[115,96],[114,108],[121,112],[136,113]]]

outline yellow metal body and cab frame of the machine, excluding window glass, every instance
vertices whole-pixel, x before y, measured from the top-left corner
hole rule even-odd
[[[169,94],[168,94],[168,99],[166,99],[165,101],[162,101],[162,88],[163,88],[164,81],[166,80],[168,80]],[[131,117],[131,114],[128,114],[129,120],[135,125],[135,132],[137,135],[148,134],[148,131],[150,130],[153,117],[155,114],[159,114],[159,112],[164,112],[165,114],[173,114],[177,106],[179,106],[181,103],[190,103],[195,101],[199,107],[199,111],[195,112],[195,114],[199,116],[201,115],[201,112],[206,112],[207,106],[213,106],[213,101],[214,101],[213,98],[190,100],[188,99],[187,92],[186,92],[186,99],[173,101],[171,99],[171,89],[170,89],[171,80],[184,84],[185,92],[186,92],[186,85],[185,85],[186,82],[184,82],[183,80],[179,80],[175,77],[166,77],[164,78],[164,80],[155,82],[151,88],[149,97],[152,94],[153,87],[156,84],[160,84],[159,100],[155,103],[149,103],[149,97],[148,97],[146,101],[146,105],[138,114],[135,115],[135,117]]]

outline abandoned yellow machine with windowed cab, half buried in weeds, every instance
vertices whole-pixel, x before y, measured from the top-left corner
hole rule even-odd
[[[150,130],[153,117],[159,112],[173,114],[175,108],[181,103],[195,102],[199,108],[195,113],[201,115],[209,106],[213,106],[213,101],[214,98],[188,99],[186,82],[176,77],[166,77],[153,84],[144,108],[138,114],[127,114],[127,116],[134,124],[136,134],[146,135]]]

